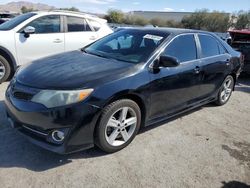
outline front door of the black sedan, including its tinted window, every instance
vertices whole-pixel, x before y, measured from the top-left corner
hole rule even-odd
[[[175,38],[163,55],[180,61],[177,67],[160,68],[151,73],[150,118],[171,114],[194,103],[199,97],[197,47],[193,34]]]

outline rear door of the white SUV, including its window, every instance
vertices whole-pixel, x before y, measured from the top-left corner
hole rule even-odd
[[[82,17],[66,16],[65,50],[72,51],[98,39],[97,33]]]

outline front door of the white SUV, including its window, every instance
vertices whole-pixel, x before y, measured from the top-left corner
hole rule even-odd
[[[24,36],[22,30],[17,32],[16,52],[20,64],[64,52],[64,33],[61,32],[61,25],[59,15],[47,15],[26,25],[35,28],[35,33],[28,38]]]

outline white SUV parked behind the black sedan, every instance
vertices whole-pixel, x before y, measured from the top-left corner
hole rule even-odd
[[[20,15],[0,25],[0,83],[33,60],[77,50],[112,33],[89,14],[49,11]]]

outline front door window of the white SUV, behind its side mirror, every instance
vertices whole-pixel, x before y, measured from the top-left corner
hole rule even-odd
[[[50,15],[38,18],[28,26],[32,26],[36,29],[36,33],[59,33],[60,32],[60,16]]]

